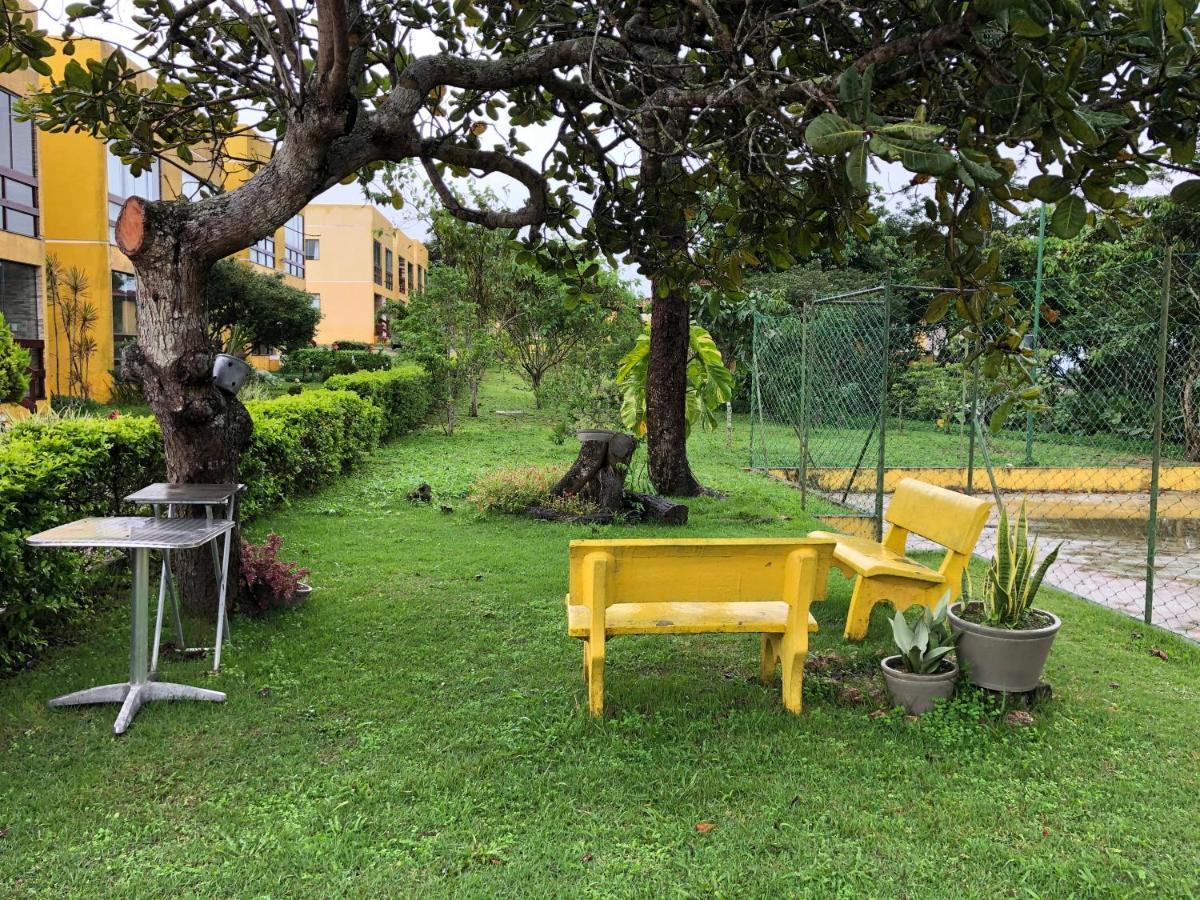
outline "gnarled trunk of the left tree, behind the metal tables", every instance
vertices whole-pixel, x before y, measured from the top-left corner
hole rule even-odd
[[[172,482],[235,482],[238,461],[250,443],[251,421],[236,397],[212,385],[212,347],[208,337],[205,280],[209,266],[179,246],[168,221],[156,228],[152,250],[137,262],[138,342],[122,360],[125,374],[142,385],[162,431],[167,479]],[[133,217],[126,227],[140,226]],[[197,510],[203,515],[203,510]],[[196,612],[216,608],[216,578],[208,547],[174,554],[185,605]],[[229,571],[239,571],[238,542]],[[236,581],[233,586],[236,589]]]

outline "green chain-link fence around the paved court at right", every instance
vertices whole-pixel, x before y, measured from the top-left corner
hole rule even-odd
[[[1022,502],[1062,541],[1048,581],[1200,638],[1200,259],[1010,282],[1040,396],[992,431],[1006,392],[940,288],[882,284],[755,322],[754,468],[878,534],[906,476]],[[859,526],[857,529],[854,526]],[[990,554],[989,528],[978,552]]]

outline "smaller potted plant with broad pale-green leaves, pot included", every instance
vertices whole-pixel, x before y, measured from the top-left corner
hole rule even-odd
[[[923,606],[916,626],[908,624],[902,612],[892,619],[892,637],[899,653],[884,659],[880,668],[893,702],[912,715],[928,713],[938,698],[954,696],[959,667],[950,658],[954,635],[947,606],[946,598],[932,612]]]

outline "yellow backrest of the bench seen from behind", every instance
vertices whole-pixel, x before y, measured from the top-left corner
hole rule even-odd
[[[788,554],[810,547],[828,565],[835,545],[823,538],[571,541],[570,592],[572,598],[583,596],[583,560],[599,551],[612,557],[608,606],[782,600]]]

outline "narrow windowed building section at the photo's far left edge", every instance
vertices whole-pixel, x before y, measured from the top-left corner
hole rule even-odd
[[[46,397],[46,311],[42,305],[42,179],[37,136],[13,104],[37,90],[31,71],[0,73],[0,313],[31,358],[30,406]]]

